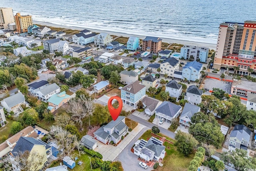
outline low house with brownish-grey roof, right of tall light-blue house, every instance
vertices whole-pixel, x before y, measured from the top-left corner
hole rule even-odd
[[[149,96],[145,96],[142,100],[142,104],[144,105],[145,114],[152,116],[153,114],[155,114],[156,108],[160,106],[160,104],[162,104],[162,101]]]

